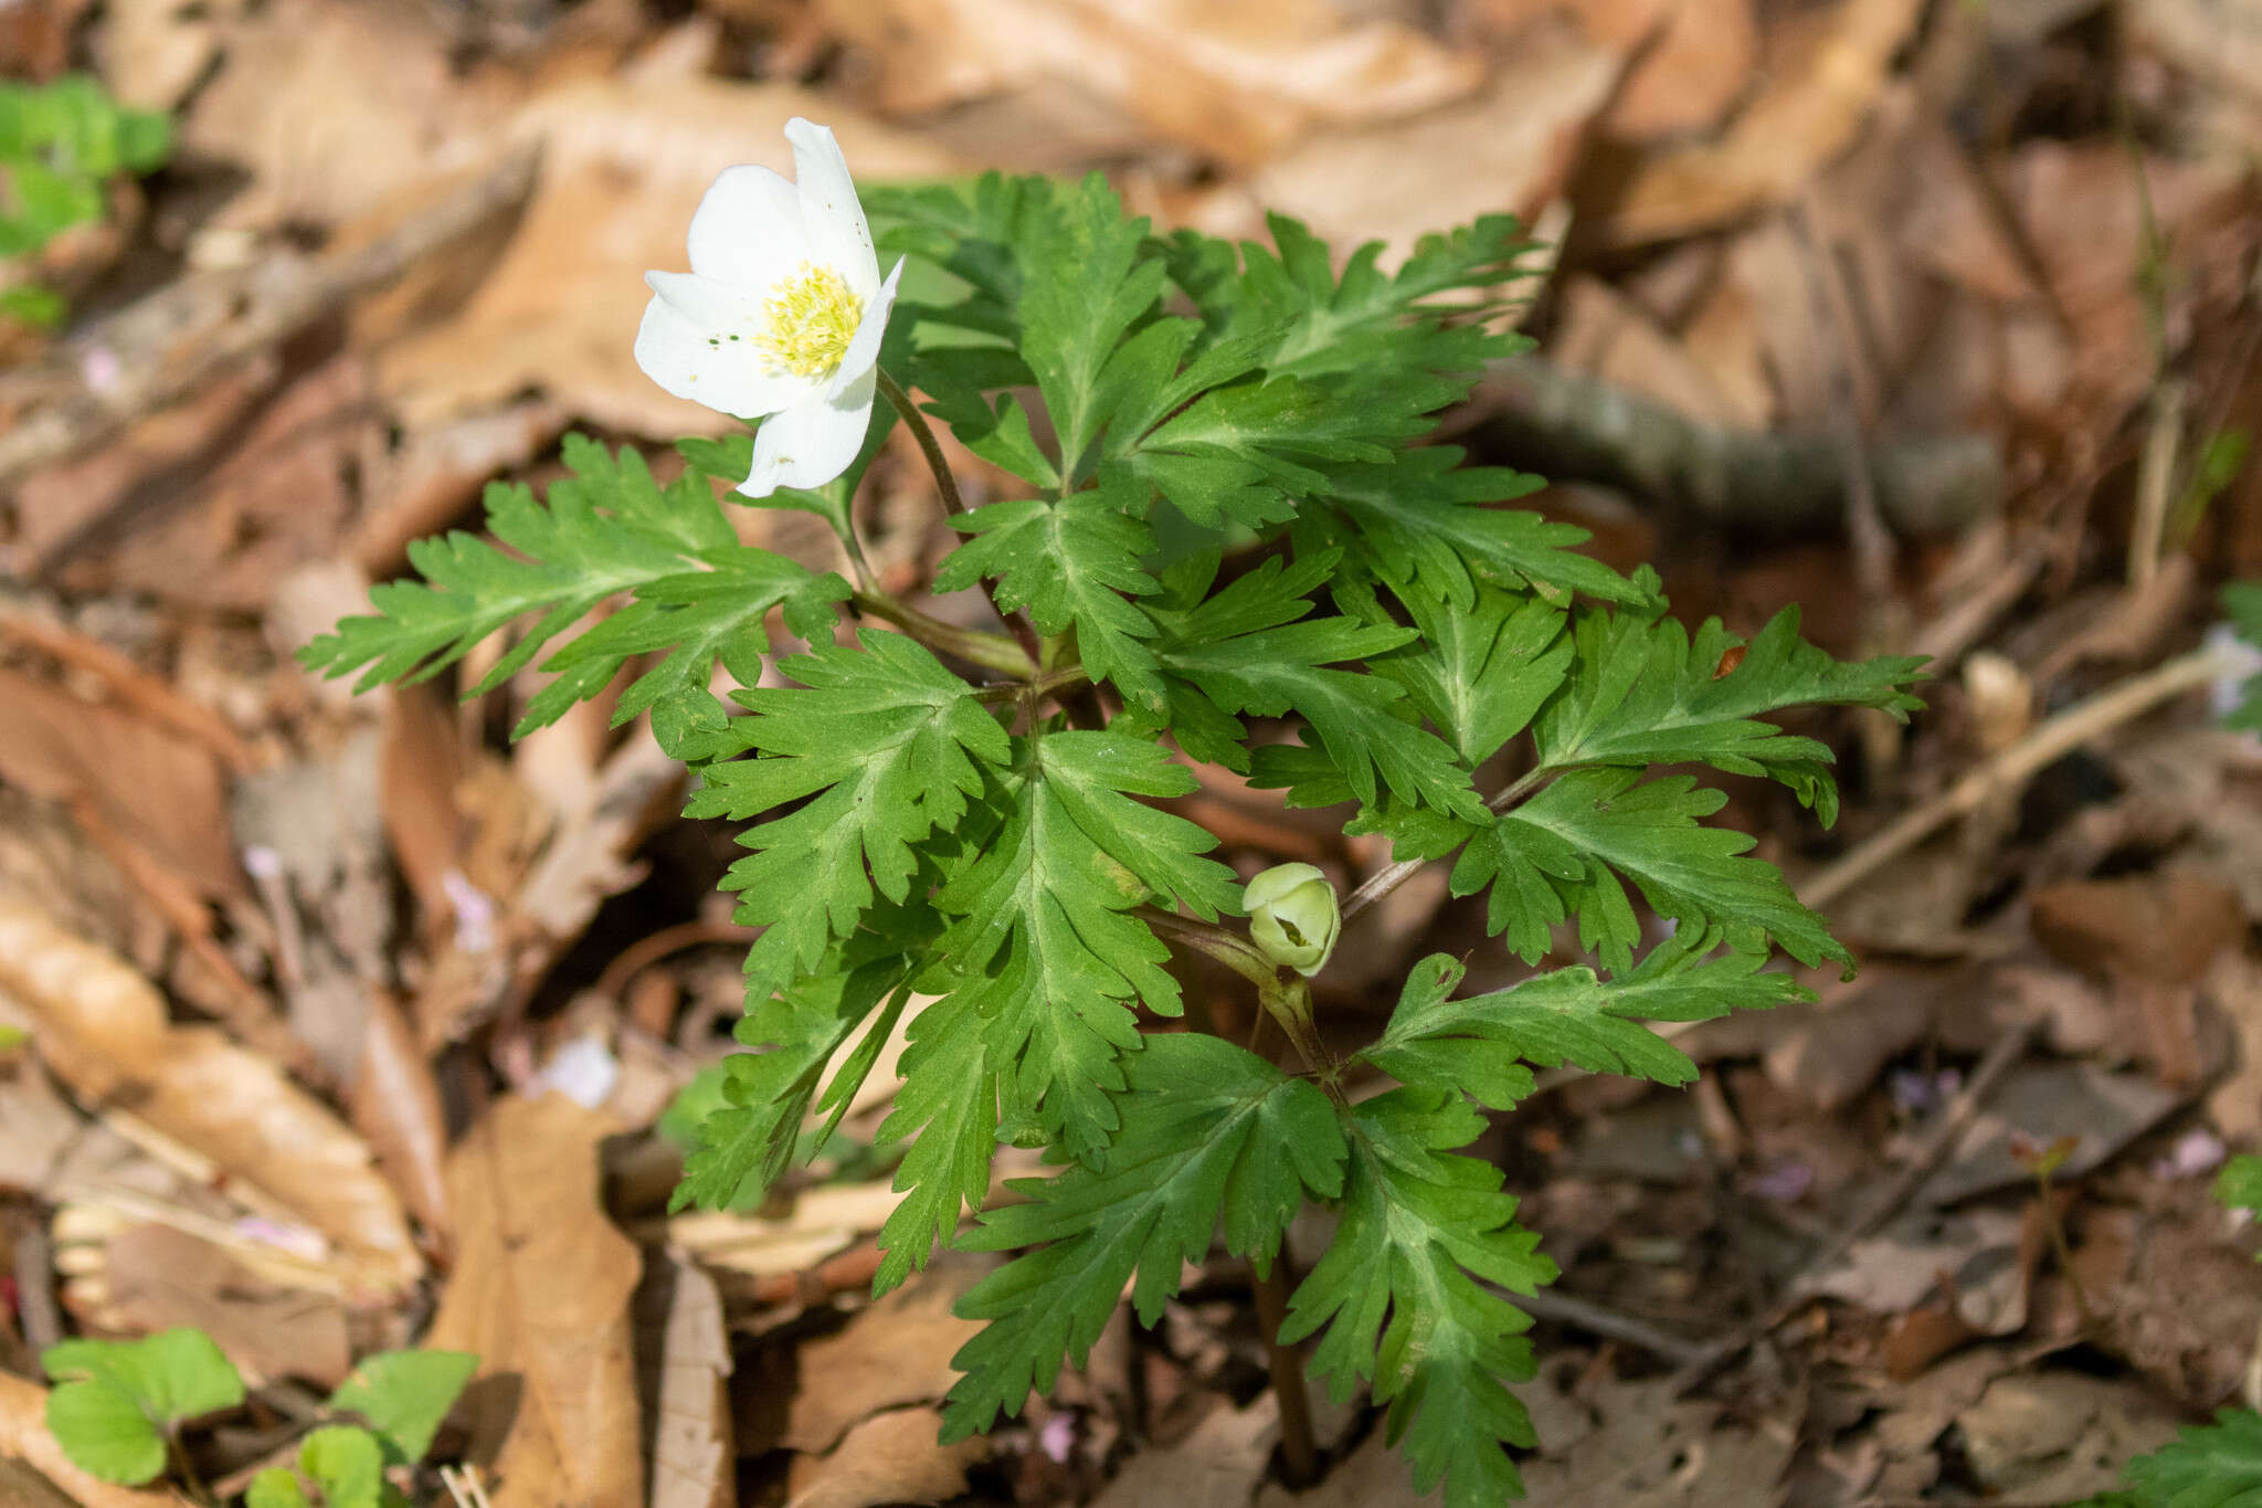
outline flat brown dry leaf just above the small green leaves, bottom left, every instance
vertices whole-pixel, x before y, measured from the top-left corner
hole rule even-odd
[[[323,1293],[278,1289],[210,1241],[165,1225],[131,1225],[104,1243],[104,1329],[149,1334],[192,1325],[213,1336],[251,1386],[301,1377],[335,1388],[353,1368],[346,1307]]]

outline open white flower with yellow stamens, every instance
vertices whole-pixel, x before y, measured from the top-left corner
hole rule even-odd
[[[903,274],[880,280],[832,131],[794,118],[785,140],[794,181],[724,167],[692,215],[692,269],[645,274],[636,332],[636,364],[670,393],[762,418],[749,497],[823,486],[855,461]]]

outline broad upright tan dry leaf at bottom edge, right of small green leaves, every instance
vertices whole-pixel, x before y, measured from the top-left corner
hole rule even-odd
[[[509,1097],[448,1158],[457,1259],[425,1345],[480,1357],[473,1456],[495,1465],[495,1508],[642,1501],[640,1262],[597,1189],[618,1130],[563,1094]]]

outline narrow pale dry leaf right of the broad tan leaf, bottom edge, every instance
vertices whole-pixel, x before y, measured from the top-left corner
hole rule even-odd
[[[731,1508],[731,1336],[715,1280],[672,1253],[654,1262],[636,1291],[636,1357],[651,1442],[649,1508]]]

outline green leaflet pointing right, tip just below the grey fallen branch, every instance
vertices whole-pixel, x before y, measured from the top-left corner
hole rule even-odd
[[[1425,445],[1393,466],[1335,473],[1328,500],[1350,520],[1382,574],[1414,581],[1468,608],[1477,586],[1534,588],[1561,599],[1586,592],[1640,604],[1651,588],[1572,547],[1586,529],[1491,504],[1538,491],[1540,479],[1493,466],[1461,466],[1454,445]]]

